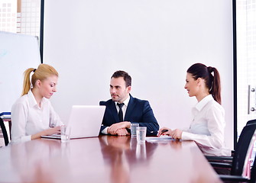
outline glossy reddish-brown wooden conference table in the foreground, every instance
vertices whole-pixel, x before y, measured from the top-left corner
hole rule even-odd
[[[40,139],[0,148],[0,182],[221,182],[193,141]]]

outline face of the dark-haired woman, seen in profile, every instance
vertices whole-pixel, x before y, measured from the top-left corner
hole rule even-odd
[[[199,79],[193,79],[192,74],[186,73],[186,85],[184,87],[189,96],[193,97],[198,94],[199,91]]]

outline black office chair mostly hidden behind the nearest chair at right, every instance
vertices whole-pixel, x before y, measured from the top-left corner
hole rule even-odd
[[[246,126],[251,125],[251,124],[256,124],[256,120],[248,120]],[[241,131],[240,137],[245,135],[244,132],[245,131]],[[240,137],[239,137],[239,139],[240,139]],[[235,154],[235,150],[232,150],[231,153],[232,153],[232,156],[206,156],[206,159],[209,162],[229,162],[230,164],[232,164],[232,160],[233,160],[233,156]]]

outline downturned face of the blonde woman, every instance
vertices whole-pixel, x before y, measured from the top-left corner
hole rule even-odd
[[[58,82],[57,75],[52,75],[44,79],[44,81],[38,80],[38,85],[40,87],[41,97],[50,98],[54,92],[57,92],[56,85]]]

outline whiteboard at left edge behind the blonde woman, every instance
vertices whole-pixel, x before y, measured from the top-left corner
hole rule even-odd
[[[0,112],[11,111],[21,96],[23,72],[40,63],[37,37],[0,31]]]

